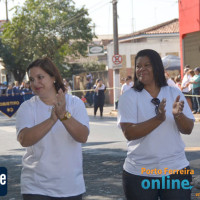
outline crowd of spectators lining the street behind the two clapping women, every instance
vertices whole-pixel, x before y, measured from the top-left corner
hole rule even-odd
[[[165,71],[165,77],[167,84],[169,86],[177,87],[185,95],[189,107],[193,111],[193,114],[200,113],[200,67],[191,69],[189,65],[186,65],[184,68],[184,76],[181,80],[181,76],[177,75],[175,77],[170,77],[170,74]],[[97,109],[100,108],[100,116],[103,115],[103,106],[105,101],[105,85],[104,89],[101,92],[95,91],[97,83],[93,83],[92,75],[89,74],[86,77],[87,83],[85,86],[86,92],[81,95],[81,99],[86,106],[94,106],[94,115],[96,116]],[[99,79],[97,79],[99,80]],[[72,94],[72,89],[68,80],[63,78],[63,83],[69,94]],[[121,91],[122,95],[125,91],[133,87],[133,78],[127,76],[126,78],[121,79]],[[102,95],[101,95],[102,93]],[[97,94],[100,94],[99,96]],[[18,81],[10,83],[8,85],[0,83],[0,96],[14,96],[14,95],[23,95],[24,100],[30,99],[34,94],[30,88],[29,81],[23,81],[19,84]],[[100,99],[100,100],[99,100]],[[99,103],[100,102],[100,103]],[[116,107],[117,108],[117,107]]]

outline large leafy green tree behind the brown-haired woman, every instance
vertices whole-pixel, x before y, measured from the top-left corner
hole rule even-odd
[[[93,34],[84,7],[77,9],[72,0],[27,0],[15,9],[12,21],[4,25],[2,43],[15,58],[18,72],[32,60],[48,56],[64,74],[67,58],[86,55]]]

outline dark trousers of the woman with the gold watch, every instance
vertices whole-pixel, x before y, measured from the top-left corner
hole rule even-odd
[[[23,200],[82,200],[82,194],[73,197],[49,197],[38,194],[23,194]]]

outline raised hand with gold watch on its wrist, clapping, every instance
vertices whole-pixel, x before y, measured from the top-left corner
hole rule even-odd
[[[58,90],[58,94],[56,95],[56,102],[54,103],[55,112],[59,119],[63,118],[66,113],[66,100],[65,93],[62,89]]]

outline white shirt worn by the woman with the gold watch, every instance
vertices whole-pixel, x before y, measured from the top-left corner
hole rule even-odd
[[[17,135],[23,128],[48,119],[51,109],[38,96],[25,101],[17,112]],[[85,105],[78,97],[66,94],[66,109],[89,129]],[[81,143],[71,137],[59,120],[39,142],[26,148],[22,165],[22,194],[68,197],[85,192]]]

